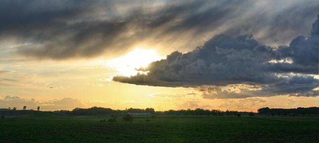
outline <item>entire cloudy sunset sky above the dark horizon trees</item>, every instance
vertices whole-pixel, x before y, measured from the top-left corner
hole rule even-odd
[[[0,0],[0,108],[319,106],[318,0]]]

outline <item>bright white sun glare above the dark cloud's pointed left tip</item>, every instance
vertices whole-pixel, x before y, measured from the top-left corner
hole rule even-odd
[[[137,74],[137,68],[146,67],[149,63],[163,59],[155,49],[136,48],[119,58],[111,59],[108,65],[115,68],[121,75],[130,76]]]

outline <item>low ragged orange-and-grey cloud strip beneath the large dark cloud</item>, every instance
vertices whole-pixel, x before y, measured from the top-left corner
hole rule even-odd
[[[202,96],[206,99],[238,99],[247,97],[270,97],[276,95],[316,97],[319,95],[318,79],[312,76],[292,76],[288,81],[277,81],[260,87],[240,87],[236,90],[226,90],[217,86],[202,89]],[[201,87],[203,88],[203,87]]]

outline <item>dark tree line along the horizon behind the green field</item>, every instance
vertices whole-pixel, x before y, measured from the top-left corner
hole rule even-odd
[[[128,108],[125,110],[114,110],[111,108],[104,107],[91,107],[91,108],[74,108],[73,110],[56,110],[53,111],[60,114],[68,115],[117,115],[126,113],[150,113],[154,115],[213,115],[213,116],[240,116],[239,114],[248,114],[253,116],[253,112],[238,112],[234,110],[208,110],[202,108],[196,109],[181,109],[181,110],[166,110],[166,111],[155,111],[154,108]],[[261,115],[312,115],[319,114],[319,107],[298,107],[298,108],[269,108],[263,107],[258,109],[258,114]]]

